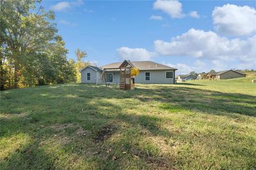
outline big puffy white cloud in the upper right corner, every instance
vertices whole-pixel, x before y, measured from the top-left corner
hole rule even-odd
[[[212,11],[214,29],[221,34],[246,36],[256,32],[256,10],[250,6],[225,4]]]

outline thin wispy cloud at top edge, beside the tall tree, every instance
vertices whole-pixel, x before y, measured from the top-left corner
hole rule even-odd
[[[67,11],[70,10],[73,6],[79,6],[83,4],[82,0],[78,1],[61,1],[55,5],[50,6],[50,9],[53,11]]]

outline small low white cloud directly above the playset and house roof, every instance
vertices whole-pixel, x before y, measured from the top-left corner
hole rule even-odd
[[[148,52],[144,48],[128,48],[128,47],[121,47],[116,49],[118,52],[118,56],[124,60],[150,60],[154,57],[154,52]]]

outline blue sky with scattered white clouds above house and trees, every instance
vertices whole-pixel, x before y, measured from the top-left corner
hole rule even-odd
[[[42,1],[68,58],[152,60],[191,71],[256,69],[256,1]]]

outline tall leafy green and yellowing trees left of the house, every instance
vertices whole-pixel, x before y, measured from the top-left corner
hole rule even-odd
[[[1,90],[79,81],[86,52],[67,59],[55,15],[37,0],[0,1]],[[38,6],[38,7],[36,7]]]

